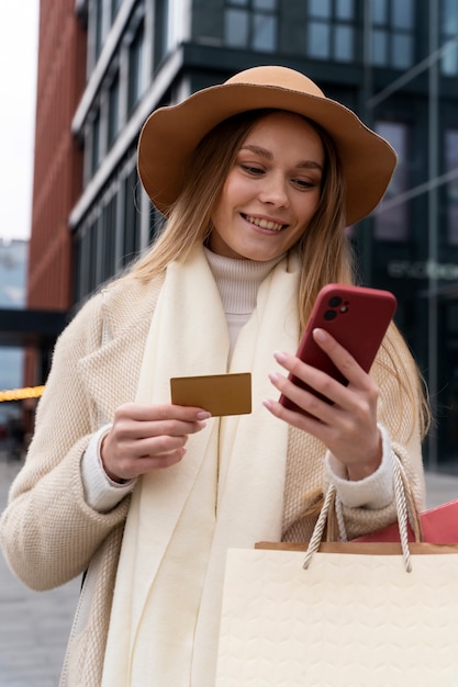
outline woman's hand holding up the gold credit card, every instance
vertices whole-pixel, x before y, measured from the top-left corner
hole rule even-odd
[[[178,405],[127,403],[118,408],[100,455],[114,482],[125,482],[178,463],[189,435],[205,427],[210,413]]]

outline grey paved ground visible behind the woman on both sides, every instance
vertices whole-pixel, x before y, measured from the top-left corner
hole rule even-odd
[[[20,464],[0,453],[0,511]],[[426,475],[427,507],[458,498],[458,476]],[[80,579],[31,592],[0,554],[0,687],[57,687]]]

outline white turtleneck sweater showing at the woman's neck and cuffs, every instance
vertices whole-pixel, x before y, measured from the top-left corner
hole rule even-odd
[[[204,249],[211,271],[220,291],[221,301],[227,322],[230,335],[230,357],[238,333],[248,322],[256,306],[257,293],[267,274],[283,256],[267,262],[225,258]],[[273,353],[273,351],[272,351]],[[100,443],[111,425],[101,427],[92,437],[81,460],[81,475],[86,500],[99,513],[108,513],[129,494],[135,486],[135,480],[119,484],[110,480],[103,470],[100,458]],[[345,466],[327,452],[325,465],[328,478],[336,485],[337,493],[344,504],[350,507],[368,505],[370,508],[382,508],[393,497],[392,474],[390,463],[391,444],[387,431],[382,433],[383,457],[380,468],[369,477],[359,482],[349,482]]]

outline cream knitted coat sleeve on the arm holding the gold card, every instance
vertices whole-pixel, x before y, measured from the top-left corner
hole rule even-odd
[[[81,574],[108,533],[126,517],[129,500],[108,514],[85,500],[80,460],[97,428],[78,361],[100,347],[101,296],[60,335],[26,462],[0,520],[0,543],[12,571],[33,589]]]

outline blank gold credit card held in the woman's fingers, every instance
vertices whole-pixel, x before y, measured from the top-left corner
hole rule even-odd
[[[170,380],[171,403],[196,406],[213,416],[252,413],[252,374],[206,374]]]

